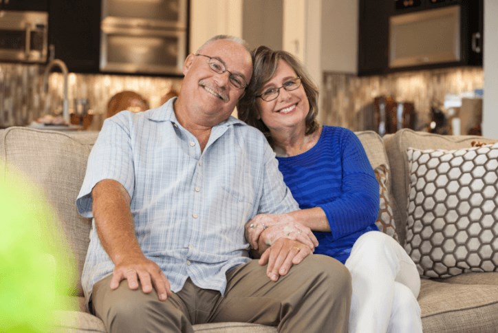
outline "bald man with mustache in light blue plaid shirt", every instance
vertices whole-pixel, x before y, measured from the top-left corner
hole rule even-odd
[[[298,206],[266,139],[230,117],[252,74],[245,43],[216,36],[183,72],[178,98],[109,118],[91,151],[77,200],[94,217],[82,278],[90,310],[109,332],[219,321],[346,332],[349,273],[307,257],[311,235],[248,257],[244,224]]]

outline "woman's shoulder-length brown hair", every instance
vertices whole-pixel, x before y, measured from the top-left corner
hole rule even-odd
[[[307,74],[301,62],[289,52],[274,51],[270,47],[262,45],[252,51],[252,79],[247,87],[246,94],[237,103],[237,113],[240,120],[262,131],[270,143],[270,130],[263,123],[263,120],[258,119],[259,112],[256,96],[261,94],[261,88],[272,78],[281,60],[288,63],[297,76],[301,77],[301,85],[303,85],[310,103],[310,111],[305,120],[305,134],[309,135],[318,129],[318,121],[316,120],[316,115],[318,114],[318,88],[311,80],[310,74]]]

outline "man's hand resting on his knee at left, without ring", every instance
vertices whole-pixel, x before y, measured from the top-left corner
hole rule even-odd
[[[133,290],[138,289],[139,280],[144,293],[149,294],[154,288],[160,301],[166,301],[171,295],[171,286],[161,268],[145,257],[116,264],[111,279],[111,289],[117,289],[120,282],[125,279],[128,280],[128,287]]]

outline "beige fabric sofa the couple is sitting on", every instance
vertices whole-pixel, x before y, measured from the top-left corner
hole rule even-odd
[[[19,167],[38,183],[63,223],[78,261],[80,276],[89,242],[90,220],[76,212],[75,200],[85,175],[87,156],[98,133],[63,133],[23,127],[0,131],[0,172],[5,162]],[[380,138],[371,131],[358,132],[375,168],[391,169],[387,186],[400,242],[407,224],[407,148],[459,149],[470,147],[479,137],[437,136],[410,130]],[[486,140],[495,142],[497,140]],[[498,221],[494,221],[496,225]],[[77,298],[78,311],[61,312],[56,332],[105,332],[96,316],[87,312],[80,281],[69,297]],[[424,332],[498,332],[498,272],[471,272],[448,279],[422,279],[418,297]],[[274,327],[248,323],[195,325],[196,332],[277,332]],[[326,332],[324,327],[324,332]]]

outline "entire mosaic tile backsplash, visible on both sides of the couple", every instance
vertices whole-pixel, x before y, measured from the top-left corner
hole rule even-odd
[[[62,110],[63,75],[49,76],[48,94],[43,93],[43,65],[0,63],[0,128],[29,125],[44,114]],[[100,129],[109,99],[123,90],[138,92],[158,107],[164,94],[180,89],[181,78],[69,74],[69,102],[87,98],[94,114],[90,129]],[[480,89],[484,73],[477,67],[453,67],[387,76],[358,77],[353,74],[324,73],[319,119],[327,125],[354,131],[374,129],[374,98],[393,96],[398,102],[413,102],[418,129],[430,121],[431,105],[440,105],[446,94]]]

